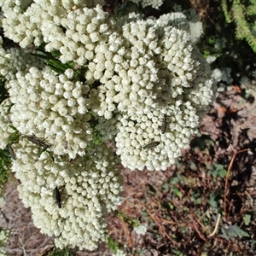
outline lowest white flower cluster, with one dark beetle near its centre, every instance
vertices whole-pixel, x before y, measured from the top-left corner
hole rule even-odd
[[[55,236],[57,247],[94,250],[104,241],[108,212],[122,203],[118,160],[102,145],[86,158],[68,161],[65,156],[43,152],[20,138],[13,144],[17,155],[13,171],[25,207],[31,207],[34,224],[42,233]],[[60,199],[55,201],[55,188]]]

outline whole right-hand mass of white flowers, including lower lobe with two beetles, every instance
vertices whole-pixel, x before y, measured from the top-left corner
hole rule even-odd
[[[191,43],[184,17],[125,24],[122,36],[113,34],[96,47],[104,55],[85,73],[92,79],[95,63],[104,63],[102,85],[90,90],[92,109],[101,117],[98,130],[115,139],[122,164],[131,170],[171,166],[215,99],[210,68]]]

